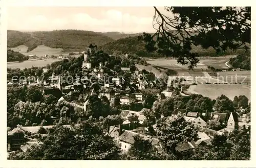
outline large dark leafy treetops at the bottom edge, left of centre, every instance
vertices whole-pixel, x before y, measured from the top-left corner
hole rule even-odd
[[[21,156],[9,159],[25,160],[116,160],[120,149],[109,136],[92,123],[70,128],[55,126],[41,145],[36,145]]]

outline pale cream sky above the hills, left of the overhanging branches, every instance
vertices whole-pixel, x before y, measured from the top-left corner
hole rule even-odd
[[[158,7],[164,11],[164,7]],[[8,30],[62,29],[94,32],[155,32],[153,7],[28,7],[7,8]]]

